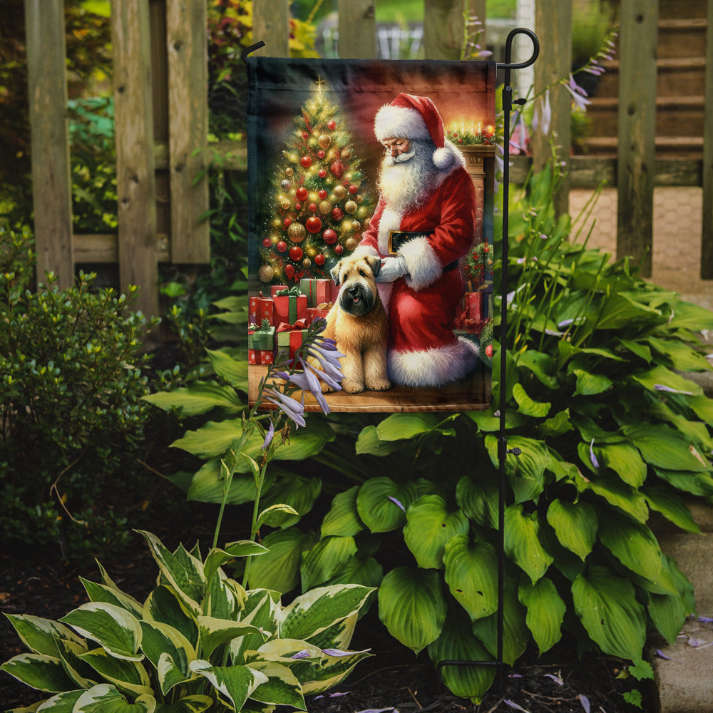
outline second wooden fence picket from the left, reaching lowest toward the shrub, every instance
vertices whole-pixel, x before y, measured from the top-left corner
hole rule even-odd
[[[148,0],[111,7],[116,121],[119,282],[140,286],[136,306],[158,315],[156,180]]]

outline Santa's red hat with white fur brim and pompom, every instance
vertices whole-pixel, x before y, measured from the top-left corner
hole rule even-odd
[[[374,133],[379,141],[387,138],[430,138],[436,145],[433,158],[438,168],[446,168],[456,150],[450,141],[446,141],[441,114],[427,96],[401,92],[394,101],[376,112]]]

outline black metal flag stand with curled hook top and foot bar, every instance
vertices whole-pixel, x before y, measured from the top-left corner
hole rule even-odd
[[[528,61],[512,63],[513,39],[518,34],[527,35],[533,42],[533,53]],[[518,27],[508,34],[505,43],[505,62],[498,64],[504,75],[503,86],[503,241],[502,241],[502,273],[501,273],[501,319],[500,319],[500,431],[498,434],[498,463],[500,466],[500,491],[498,494],[498,650],[495,661],[444,660],[438,663],[438,672],[444,666],[495,666],[498,670],[498,689],[503,691],[503,634],[504,634],[504,596],[505,596],[505,497],[506,475],[505,461],[508,453],[513,456],[520,454],[520,448],[508,449],[508,438],[505,434],[506,423],[506,373],[507,350],[506,334],[508,332],[508,205],[510,198],[510,113],[513,104],[524,104],[525,99],[513,100],[513,88],[510,85],[510,73],[513,69],[524,69],[535,63],[540,54],[540,42],[532,30]]]

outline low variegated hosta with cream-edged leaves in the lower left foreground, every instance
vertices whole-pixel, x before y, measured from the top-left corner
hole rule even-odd
[[[289,605],[247,591],[222,566],[264,555],[251,540],[171,552],[142,533],[160,575],[144,602],[82,580],[90,602],[59,621],[8,615],[29,653],[0,669],[46,694],[47,713],[306,710],[304,695],[339,683],[367,651],[349,651],[371,589],[321,587]],[[32,707],[31,710],[35,710]],[[27,709],[30,710],[30,709]]]

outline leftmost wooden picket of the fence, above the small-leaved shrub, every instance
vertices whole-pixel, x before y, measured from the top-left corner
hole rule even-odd
[[[63,0],[25,0],[37,280],[74,284]]]

